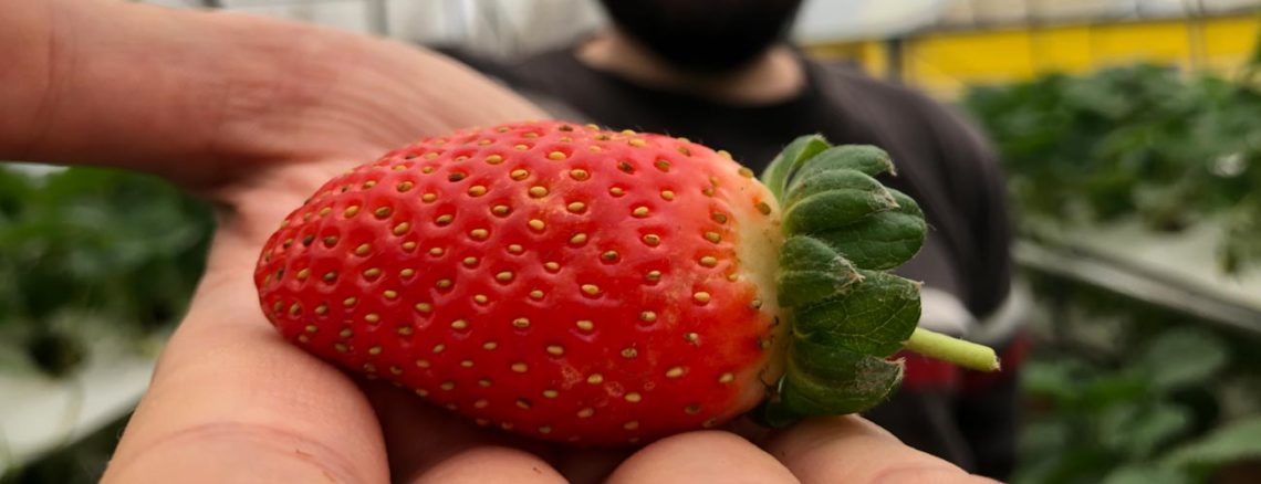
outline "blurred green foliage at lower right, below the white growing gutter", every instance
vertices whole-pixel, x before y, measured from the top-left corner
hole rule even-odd
[[[1231,368],[1232,352],[1194,326],[1166,329],[1115,359],[1044,348],[1024,369],[1031,418],[1013,481],[1203,483],[1261,459],[1261,416],[1226,415],[1238,411],[1231,389],[1261,396],[1256,381],[1241,381],[1246,368]]]

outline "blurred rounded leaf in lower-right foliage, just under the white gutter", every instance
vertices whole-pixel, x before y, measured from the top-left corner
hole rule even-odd
[[[1174,328],[1153,340],[1139,359],[1153,388],[1173,391],[1200,386],[1226,366],[1228,350],[1222,340],[1202,329]]]

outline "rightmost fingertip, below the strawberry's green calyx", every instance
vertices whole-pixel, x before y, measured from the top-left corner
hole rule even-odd
[[[767,451],[802,483],[992,483],[899,442],[860,417],[817,418],[770,440]]]

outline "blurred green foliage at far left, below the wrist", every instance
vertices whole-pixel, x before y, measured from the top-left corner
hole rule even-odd
[[[84,321],[124,342],[174,323],[213,227],[206,204],[153,176],[0,164],[0,363],[62,374],[86,357]]]

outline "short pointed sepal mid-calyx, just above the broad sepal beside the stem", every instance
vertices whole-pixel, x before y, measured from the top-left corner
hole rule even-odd
[[[793,236],[779,248],[779,305],[802,308],[849,291],[863,276],[822,241]]]

